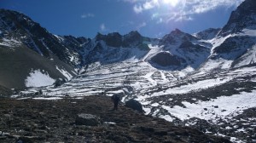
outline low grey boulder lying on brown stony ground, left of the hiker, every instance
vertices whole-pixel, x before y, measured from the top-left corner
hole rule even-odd
[[[101,118],[95,115],[81,113],[76,117],[77,125],[98,126],[101,125]]]

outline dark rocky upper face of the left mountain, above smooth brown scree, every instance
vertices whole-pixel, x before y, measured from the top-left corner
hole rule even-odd
[[[25,14],[0,9],[0,30],[4,38],[23,43],[48,59],[54,59],[52,54],[55,54],[60,60],[74,64],[70,60],[71,53],[58,42],[58,38]]]

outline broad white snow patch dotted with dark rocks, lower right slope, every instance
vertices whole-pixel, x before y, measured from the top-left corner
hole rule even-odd
[[[198,101],[195,104],[183,102],[186,108],[181,106],[162,106],[173,116],[182,120],[189,119],[190,117],[199,117],[201,119],[217,120],[218,118],[231,118],[235,117],[243,110],[256,106],[256,90],[252,93],[242,92],[241,94],[234,94],[232,96],[221,96],[214,100]],[[216,107],[218,105],[218,107]],[[168,120],[170,118],[166,118]]]

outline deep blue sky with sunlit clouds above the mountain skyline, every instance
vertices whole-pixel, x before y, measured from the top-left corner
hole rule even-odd
[[[1,9],[28,15],[56,35],[139,31],[163,37],[175,28],[195,33],[223,27],[244,0],[0,0]]]

